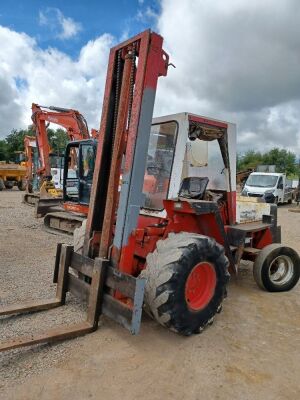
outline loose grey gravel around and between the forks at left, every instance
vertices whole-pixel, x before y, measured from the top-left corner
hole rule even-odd
[[[56,245],[71,244],[72,238],[44,231],[42,219],[35,219],[33,211],[32,207],[21,204],[18,190],[0,192],[0,306],[55,297],[52,273]],[[0,340],[81,321],[84,316],[83,306],[68,296],[64,307],[32,315],[0,317]],[[28,376],[51,367],[66,357],[76,342],[0,354],[0,388],[16,381],[22,383]]]

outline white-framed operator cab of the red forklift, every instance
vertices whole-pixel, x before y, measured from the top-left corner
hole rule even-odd
[[[234,124],[189,113],[154,118],[141,214],[165,217],[165,199],[209,200],[228,204],[235,222],[235,154]]]

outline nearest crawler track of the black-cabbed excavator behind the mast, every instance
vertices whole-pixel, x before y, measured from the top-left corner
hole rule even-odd
[[[44,227],[51,233],[65,233],[73,235],[76,228],[80,228],[86,219],[83,214],[73,214],[64,211],[51,212],[44,217]]]

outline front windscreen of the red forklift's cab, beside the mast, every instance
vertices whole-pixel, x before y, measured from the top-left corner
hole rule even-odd
[[[145,208],[162,210],[171,179],[178,124],[176,121],[154,124],[148,146],[143,193]]]

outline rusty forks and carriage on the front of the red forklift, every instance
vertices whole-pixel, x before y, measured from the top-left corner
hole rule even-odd
[[[76,272],[80,273],[80,278],[75,275]],[[91,283],[85,282],[83,278],[89,278]],[[107,259],[84,257],[75,253],[73,246],[60,243],[56,252],[54,281],[57,282],[55,298],[7,306],[0,309],[0,316],[44,311],[62,306],[65,304],[67,292],[70,291],[75,297],[87,301],[86,320],[42,333],[9,339],[0,343],[0,352],[83,336],[97,330],[101,314],[114,319],[133,335],[138,334],[144,299],[144,279],[134,278],[116,270],[110,266]],[[132,305],[128,306],[114,298],[114,291],[131,298]]]

